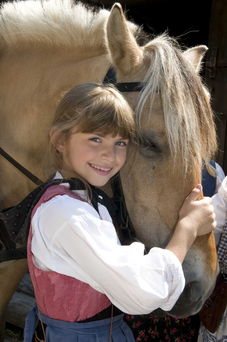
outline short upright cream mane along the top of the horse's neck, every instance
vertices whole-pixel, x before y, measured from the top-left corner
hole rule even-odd
[[[104,26],[109,14],[73,0],[6,2],[0,12],[0,48],[105,50]],[[128,25],[137,39],[141,27]]]

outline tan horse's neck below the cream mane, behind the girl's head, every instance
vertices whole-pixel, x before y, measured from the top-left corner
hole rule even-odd
[[[98,52],[7,52],[0,61],[0,146],[41,180],[46,136],[62,93],[102,82],[108,59]],[[35,184],[0,157],[0,207],[15,205]]]

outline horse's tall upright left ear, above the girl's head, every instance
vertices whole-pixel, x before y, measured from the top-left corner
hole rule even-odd
[[[115,3],[111,9],[106,34],[112,62],[121,74],[128,75],[134,67],[141,64],[143,55],[119,3]]]

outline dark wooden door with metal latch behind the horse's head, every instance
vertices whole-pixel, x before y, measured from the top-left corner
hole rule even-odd
[[[227,174],[227,146],[226,124],[227,124],[227,6],[226,1],[213,0],[211,10],[211,22],[209,32],[207,60],[209,64],[212,48],[218,47],[216,77],[210,78],[210,70],[205,70],[205,81],[211,90],[211,103],[215,112],[215,122],[219,139],[219,149],[216,162],[223,167]],[[224,151],[226,150],[226,153]]]

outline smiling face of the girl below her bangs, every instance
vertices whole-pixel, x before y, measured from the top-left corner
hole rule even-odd
[[[64,161],[84,180],[103,186],[123,166],[128,142],[120,136],[77,132],[70,136],[67,150],[63,146],[60,152]]]

